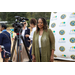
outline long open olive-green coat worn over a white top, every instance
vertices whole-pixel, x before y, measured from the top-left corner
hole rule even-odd
[[[49,62],[51,56],[51,50],[55,50],[55,37],[51,29],[47,32],[44,30],[41,38],[41,62]],[[35,55],[36,62],[40,62],[40,51],[39,51],[39,32],[34,32],[33,44],[32,44],[32,55]]]

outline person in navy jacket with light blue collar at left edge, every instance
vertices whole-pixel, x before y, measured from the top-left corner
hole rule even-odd
[[[1,24],[0,26],[0,31],[2,31],[2,33],[0,33],[0,45],[3,45],[5,47],[5,50],[10,52],[11,50],[11,38],[10,38],[10,33],[8,33],[6,31],[7,26],[5,24]],[[0,52],[3,58],[3,54],[4,51],[2,51],[1,46],[0,46]],[[10,55],[9,55],[10,57]],[[5,56],[5,62],[8,62],[9,57]]]

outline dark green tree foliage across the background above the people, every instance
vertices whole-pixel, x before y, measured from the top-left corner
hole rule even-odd
[[[49,25],[51,12],[0,12],[0,21],[8,21],[9,24],[15,21],[15,16],[26,17],[31,20],[31,18],[38,19],[44,17]],[[28,27],[29,27],[28,21]],[[11,26],[11,25],[8,25]]]

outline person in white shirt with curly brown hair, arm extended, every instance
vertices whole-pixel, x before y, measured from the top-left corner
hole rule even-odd
[[[26,38],[27,38],[27,37],[30,38],[31,44],[32,44],[32,41],[33,41],[34,32],[36,31],[36,24],[37,24],[37,20],[36,20],[35,18],[32,18],[32,19],[30,20],[30,27],[31,27],[31,29],[32,29],[31,34],[30,34],[30,35],[28,35],[28,34],[25,35]],[[31,53],[32,53],[32,47],[30,48],[30,56],[31,56],[31,59],[32,59]]]

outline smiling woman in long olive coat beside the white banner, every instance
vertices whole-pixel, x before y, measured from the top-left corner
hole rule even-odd
[[[55,50],[54,35],[51,29],[48,29],[44,18],[39,18],[37,22],[37,30],[33,36],[32,60],[33,62],[53,62]]]

